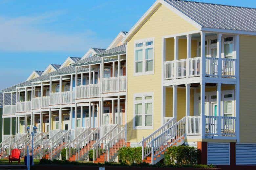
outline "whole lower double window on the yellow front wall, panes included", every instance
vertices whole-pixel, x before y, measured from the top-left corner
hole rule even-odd
[[[153,101],[153,93],[135,95],[134,129],[153,128]]]

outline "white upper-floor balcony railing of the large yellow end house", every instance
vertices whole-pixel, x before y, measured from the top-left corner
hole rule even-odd
[[[205,76],[217,77],[220,72],[222,77],[235,78],[236,59],[221,58],[221,61],[222,67],[221,70],[218,70],[218,58],[205,57]],[[202,74],[201,62],[201,57],[165,61],[163,63],[163,79],[200,76]]]

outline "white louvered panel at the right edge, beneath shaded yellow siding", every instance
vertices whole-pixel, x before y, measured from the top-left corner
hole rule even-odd
[[[256,165],[256,144],[236,144],[236,164]]]

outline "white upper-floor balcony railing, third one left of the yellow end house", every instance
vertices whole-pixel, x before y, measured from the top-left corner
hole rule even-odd
[[[57,92],[50,94],[50,105],[75,103],[75,91]]]

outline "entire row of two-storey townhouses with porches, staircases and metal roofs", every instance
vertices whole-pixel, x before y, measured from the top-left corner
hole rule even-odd
[[[256,165],[255,21],[253,8],[157,0],[107,49],[2,90],[0,156],[24,156],[36,126],[38,158],[67,148],[67,159],[87,160],[93,149],[94,162],[110,162],[141,146],[155,164],[166,148],[189,145],[202,164]]]

